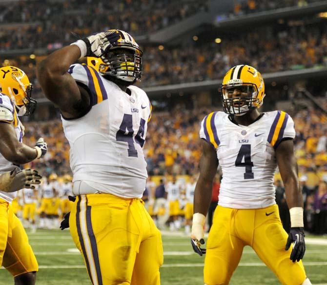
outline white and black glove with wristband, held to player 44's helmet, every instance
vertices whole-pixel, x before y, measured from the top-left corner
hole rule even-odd
[[[82,57],[96,57],[100,58],[105,54],[117,41],[121,35],[117,30],[110,30],[107,32],[97,33],[88,36],[82,40],[75,41],[72,44],[77,45],[81,50]]]

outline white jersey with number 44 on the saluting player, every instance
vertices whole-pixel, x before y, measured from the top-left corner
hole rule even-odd
[[[94,68],[75,64],[68,71],[90,91],[91,109],[81,118],[62,119],[70,145],[73,183],[82,181],[90,189],[74,194],[110,193],[141,198],[147,178],[143,154],[151,104],[146,93],[133,85],[131,95],[103,78]],[[93,188],[93,190],[92,190]]]

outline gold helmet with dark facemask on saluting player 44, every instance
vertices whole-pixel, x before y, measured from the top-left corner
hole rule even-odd
[[[110,31],[110,30],[108,30]],[[139,45],[128,33],[116,30],[120,39],[101,58],[87,58],[87,65],[103,75],[113,76],[123,81],[141,81],[142,55]]]

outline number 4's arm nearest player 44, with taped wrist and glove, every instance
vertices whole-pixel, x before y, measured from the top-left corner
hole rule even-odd
[[[212,185],[217,173],[218,159],[216,150],[202,140],[202,155],[200,159],[200,176],[194,192],[194,215],[191,232],[193,249],[199,255],[205,253],[204,248],[204,223],[212,195]]]

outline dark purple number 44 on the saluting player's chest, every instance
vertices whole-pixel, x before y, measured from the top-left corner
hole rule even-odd
[[[141,118],[139,130],[135,136],[135,142],[143,147],[145,140],[142,138],[144,136],[144,126],[145,120]],[[127,132],[127,133],[126,133]],[[130,114],[124,114],[123,122],[121,123],[118,132],[116,133],[116,141],[127,142],[128,143],[128,156],[138,157],[137,150],[134,146],[133,140],[133,117]]]

